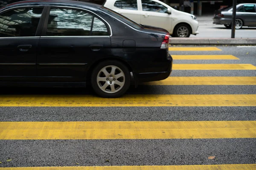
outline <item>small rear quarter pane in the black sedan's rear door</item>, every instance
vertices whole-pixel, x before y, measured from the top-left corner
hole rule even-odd
[[[107,36],[108,35],[108,29],[99,18],[94,17],[93,20],[93,29],[92,29],[92,35],[93,36]]]

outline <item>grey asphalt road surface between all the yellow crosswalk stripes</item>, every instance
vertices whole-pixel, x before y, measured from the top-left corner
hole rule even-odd
[[[194,46],[191,46],[194,47]],[[198,46],[197,46],[198,47]],[[204,47],[204,46],[201,46]],[[239,59],[174,60],[174,64],[251,64],[256,48],[216,46],[222,51],[170,51],[172,55],[233,55]],[[254,70],[173,70],[171,77],[256,77]],[[1,88],[15,95],[94,95],[92,88]],[[256,94],[254,85],[139,85],[126,95]],[[29,100],[33,100],[31,98]],[[10,99],[11,100],[11,99]],[[255,101],[255,99],[254,99]],[[19,102],[19,101],[17,101]],[[43,106],[44,103],[42,103]],[[1,122],[256,121],[256,106],[0,107]],[[254,122],[255,123],[255,122]],[[0,124],[2,125],[2,124]],[[256,164],[256,135],[230,139],[3,139],[1,167]],[[12,134],[10,134],[12,136]],[[208,159],[215,156],[215,159]],[[7,161],[7,160],[11,161]]]

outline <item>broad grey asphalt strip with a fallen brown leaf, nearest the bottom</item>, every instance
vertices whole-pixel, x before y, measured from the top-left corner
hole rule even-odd
[[[255,143],[255,138],[1,140],[0,166],[253,164]]]

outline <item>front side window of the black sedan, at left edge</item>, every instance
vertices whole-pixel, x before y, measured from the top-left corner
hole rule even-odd
[[[0,15],[0,37],[34,37],[43,8],[22,8]]]

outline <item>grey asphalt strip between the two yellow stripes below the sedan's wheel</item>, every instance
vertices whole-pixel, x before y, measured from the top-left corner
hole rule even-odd
[[[2,107],[0,121],[256,120],[256,107]]]

